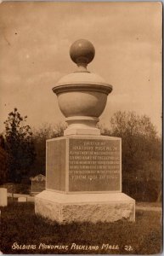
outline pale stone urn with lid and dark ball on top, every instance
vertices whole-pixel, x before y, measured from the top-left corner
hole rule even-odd
[[[68,124],[64,136],[100,135],[96,124],[105,109],[112,86],[87,70],[95,55],[93,44],[88,40],[79,39],[73,43],[70,55],[77,65],[76,71],[59,79],[53,88]]]

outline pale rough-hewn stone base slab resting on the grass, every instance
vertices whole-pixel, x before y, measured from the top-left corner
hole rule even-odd
[[[61,224],[135,221],[135,201],[121,192],[69,195],[44,190],[35,196],[35,212]]]

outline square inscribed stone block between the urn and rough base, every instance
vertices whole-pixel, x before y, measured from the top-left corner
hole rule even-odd
[[[66,194],[122,192],[122,139],[67,136],[47,141],[46,189]]]

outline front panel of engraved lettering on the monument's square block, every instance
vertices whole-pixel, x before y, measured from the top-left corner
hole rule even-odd
[[[70,189],[72,191],[119,190],[120,157],[118,139],[70,139]]]

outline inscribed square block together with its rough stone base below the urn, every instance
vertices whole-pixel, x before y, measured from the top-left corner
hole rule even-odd
[[[134,221],[135,201],[122,193],[121,143],[82,135],[48,140],[46,190],[35,196],[35,212],[59,223]]]

